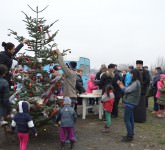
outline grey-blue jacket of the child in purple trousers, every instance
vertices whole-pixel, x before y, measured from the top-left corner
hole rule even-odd
[[[71,106],[64,106],[61,108],[57,116],[57,122],[61,122],[61,127],[74,127],[76,119],[76,112]]]

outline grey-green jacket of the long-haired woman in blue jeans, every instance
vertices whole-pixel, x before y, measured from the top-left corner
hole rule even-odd
[[[137,106],[140,101],[141,85],[140,81],[136,80],[128,87],[122,89],[124,91],[123,102]]]

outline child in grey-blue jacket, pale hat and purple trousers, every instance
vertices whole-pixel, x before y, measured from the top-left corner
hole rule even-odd
[[[60,141],[61,141],[61,150],[64,149],[65,141],[66,141],[66,134],[69,137],[71,146],[70,148],[73,149],[74,146],[74,124],[76,122],[76,112],[74,108],[71,107],[71,99],[69,97],[64,98],[64,107],[60,109],[57,122],[60,124]]]

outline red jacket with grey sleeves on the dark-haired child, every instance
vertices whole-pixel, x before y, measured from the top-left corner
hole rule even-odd
[[[113,103],[114,103],[114,94],[110,92],[110,96],[108,97],[106,93],[101,98],[101,102],[103,102],[103,109],[112,112]]]

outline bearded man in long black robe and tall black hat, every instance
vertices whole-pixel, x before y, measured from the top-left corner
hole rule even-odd
[[[135,122],[143,123],[146,121],[146,92],[150,84],[150,75],[148,70],[143,68],[143,61],[136,61],[136,69],[140,72],[141,79],[141,95],[139,105],[135,108],[134,119]]]

